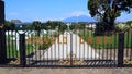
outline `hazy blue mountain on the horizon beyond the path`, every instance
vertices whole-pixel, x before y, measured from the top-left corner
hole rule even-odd
[[[72,16],[63,20],[63,22],[96,22],[94,17],[88,15]]]

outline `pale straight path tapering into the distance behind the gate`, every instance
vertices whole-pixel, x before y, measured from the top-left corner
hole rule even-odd
[[[55,40],[45,53],[42,53],[41,59],[57,60],[66,59],[70,52],[76,55],[76,59],[96,59],[99,54],[87,45],[80,37],[72,32],[65,32]]]

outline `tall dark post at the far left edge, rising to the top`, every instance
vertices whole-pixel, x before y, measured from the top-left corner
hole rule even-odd
[[[0,63],[7,63],[6,32],[4,32],[4,2],[0,0]]]

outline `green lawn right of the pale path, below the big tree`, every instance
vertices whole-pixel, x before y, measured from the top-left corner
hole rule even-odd
[[[95,36],[91,30],[84,30],[78,34],[86,42],[95,49],[118,49],[119,34],[106,36]],[[124,33],[124,48],[131,48],[132,33]]]

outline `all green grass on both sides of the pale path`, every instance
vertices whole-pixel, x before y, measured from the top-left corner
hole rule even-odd
[[[95,36],[91,30],[85,29],[80,32],[78,35],[95,49],[118,49],[118,44],[119,44],[118,33],[114,33],[109,36],[108,35],[107,36]],[[59,34],[53,35],[53,37],[57,37],[57,36],[59,36]],[[12,36],[9,36],[9,38],[7,38],[7,57],[19,58],[20,50],[16,50],[16,46],[15,46],[16,44],[15,41],[11,40],[11,37]],[[40,40],[43,44],[32,42],[33,39],[31,38],[31,44],[26,42],[26,46],[25,46],[26,55],[31,54],[36,49],[40,49],[40,50],[47,49],[53,44],[51,41],[53,40],[51,37],[52,36],[48,37],[47,35],[43,36],[42,40]],[[124,48],[132,48],[132,33],[131,32],[124,33]]]

